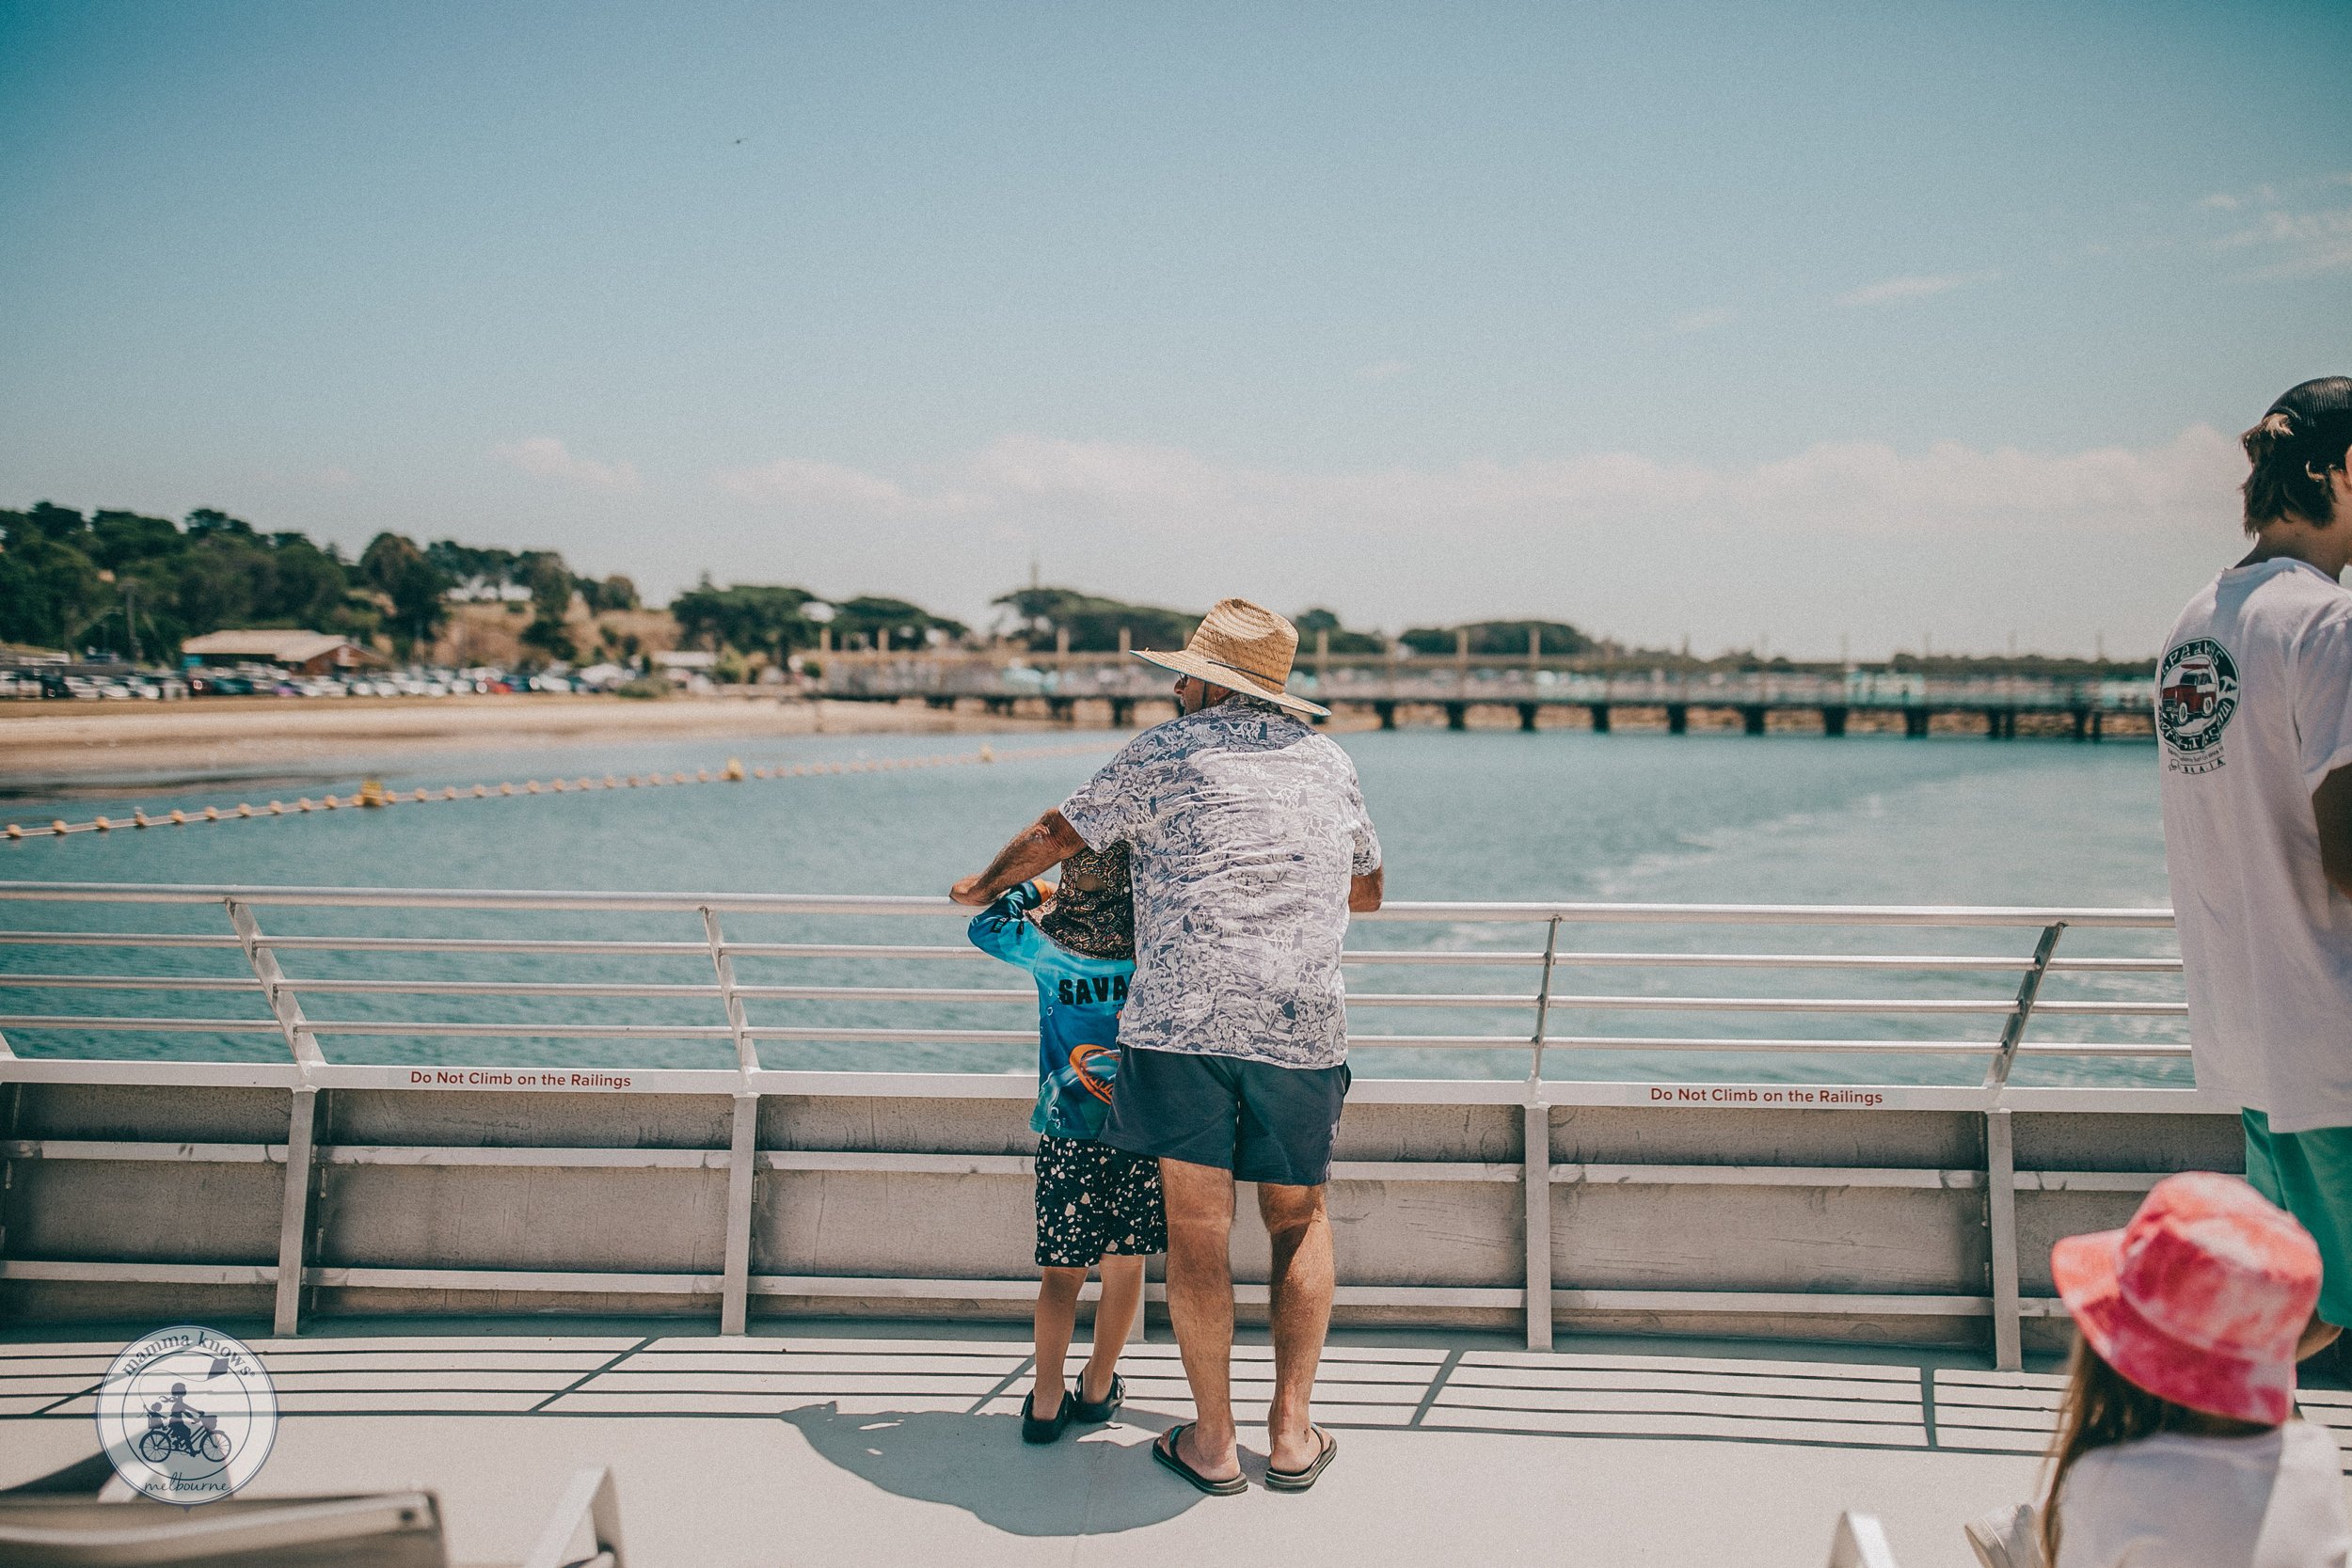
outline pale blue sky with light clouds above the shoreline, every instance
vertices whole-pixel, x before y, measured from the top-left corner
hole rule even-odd
[[[2343,5],[21,5],[0,501],[2152,649],[2352,369]]]

